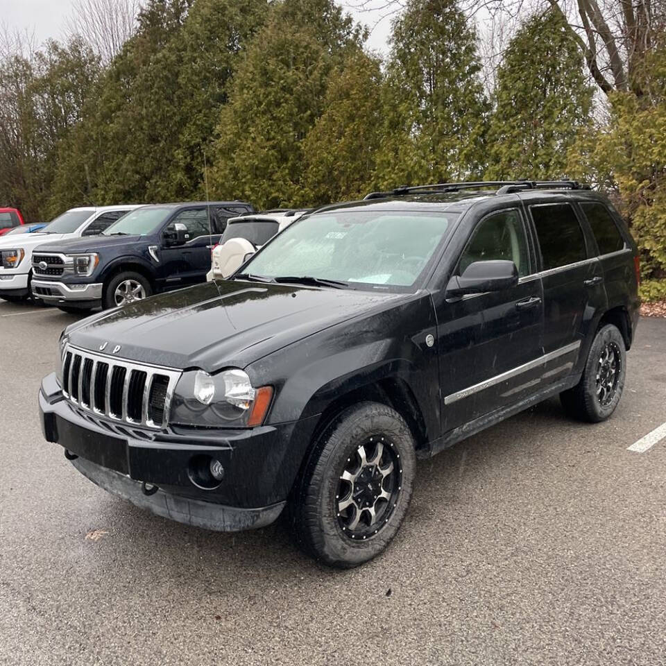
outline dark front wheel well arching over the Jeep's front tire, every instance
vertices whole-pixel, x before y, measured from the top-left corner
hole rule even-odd
[[[330,422],[344,409],[358,402],[380,402],[395,409],[407,422],[416,441],[416,448],[427,444],[425,420],[409,386],[401,379],[388,378],[376,384],[355,388],[331,402],[321,414],[312,435],[315,442]]]

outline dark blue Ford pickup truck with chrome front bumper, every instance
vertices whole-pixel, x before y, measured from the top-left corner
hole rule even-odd
[[[203,282],[227,220],[247,212],[253,207],[242,201],[142,206],[100,236],[40,245],[33,296],[71,312]]]

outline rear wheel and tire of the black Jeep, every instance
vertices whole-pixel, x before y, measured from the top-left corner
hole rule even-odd
[[[615,370],[610,369],[613,367]],[[562,406],[578,420],[588,423],[604,421],[620,402],[625,376],[624,338],[616,326],[606,324],[592,341],[581,381],[560,393]]]

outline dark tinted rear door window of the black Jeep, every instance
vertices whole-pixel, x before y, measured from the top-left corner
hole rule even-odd
[[[585,236],[572,205],[547,203],[530,206],[544,271],[588,258]]]

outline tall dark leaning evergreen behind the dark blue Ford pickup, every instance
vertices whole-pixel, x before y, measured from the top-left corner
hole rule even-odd
[[[61,151],[51,205],[201,195],[203,153],[234,59],[266,0],[153,0]]]

